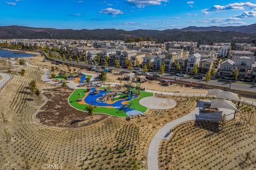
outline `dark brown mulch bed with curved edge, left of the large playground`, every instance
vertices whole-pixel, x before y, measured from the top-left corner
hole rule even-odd
[[[109,117],[104,114],[90,116],[86,112],[71,107],[68,104],[68,97],[73,89],[54,87],[43,91],[48,101],[36,115],[37,121],[43,125],[58,128],[79,128]]]

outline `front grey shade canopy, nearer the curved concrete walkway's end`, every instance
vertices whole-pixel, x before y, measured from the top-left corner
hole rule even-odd
[[[232,101],[225,99],[211,99],[210,108],[226,108],[233,111],[238,111],[236,105]]]

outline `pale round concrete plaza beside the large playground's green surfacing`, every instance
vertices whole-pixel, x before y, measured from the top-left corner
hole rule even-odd
[[[145,97],[141,99],[139,103],[149,109],[168,109],[176,105],[176,101],[172,99],[159,98],[155,96]]]

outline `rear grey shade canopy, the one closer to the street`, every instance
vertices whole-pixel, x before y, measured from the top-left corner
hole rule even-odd
[[[219,89],[209,89],[207,95],[216,96],[217,99],[240,101],[238,94],[235,94],[234,92],[230,92],[230,91],[223,91]]]

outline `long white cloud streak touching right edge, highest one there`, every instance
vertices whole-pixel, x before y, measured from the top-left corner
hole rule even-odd
[[[233,4],[228,4],[225,6],[221,6],[221,5],[214,5],[211,8],[205,8],[204,10],[202,10],[202,12],[204,14],[209,14],[210,12],[213,11],[227,11],[227,10],[245,10],[244,8],[256,8],[256,4],[250,3],[250,2],[246,2],[246,3],[233,3]]]

